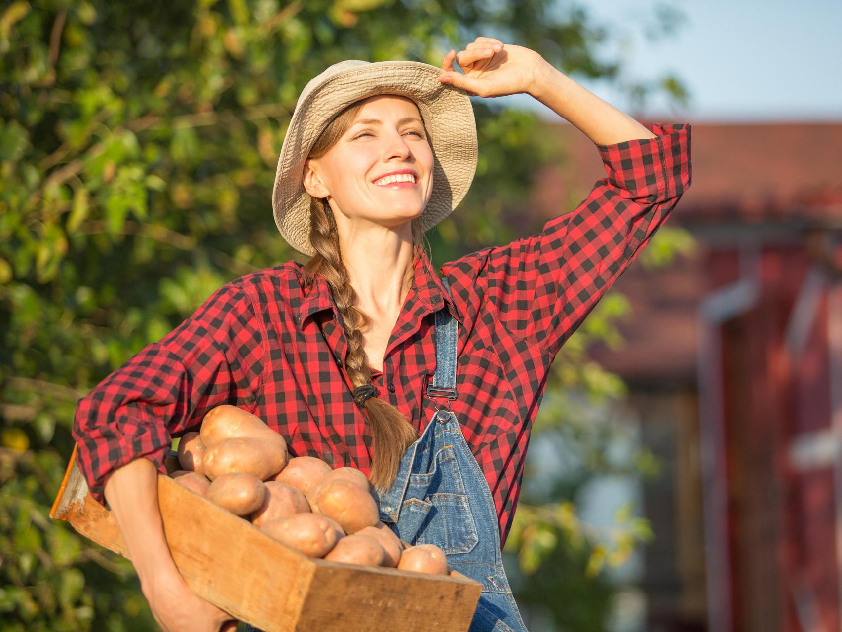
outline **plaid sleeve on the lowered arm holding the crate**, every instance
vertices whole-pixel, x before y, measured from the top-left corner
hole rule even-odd
[[[197,429],[216,405],[257,399],[264,349],[253,301],[229,283],[80,399],[72,436],[93,498],[105,505],[111,472],[138,457],[166,474],[173,437]]]

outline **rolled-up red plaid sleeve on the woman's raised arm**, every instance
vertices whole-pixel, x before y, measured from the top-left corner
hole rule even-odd
[[[690,124],[643,125],[656,136],[596,145],[606,177],[572,212],[442,265],[455,294],[555,356],[690,187]]]

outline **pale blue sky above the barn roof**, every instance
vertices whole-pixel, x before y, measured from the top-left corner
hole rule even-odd
[[[842,0],[598,0],[581,6],[616,33],[600,56],[619,53],[624,78],[648,80],[673,72],[688,88],[686,108],[653,99],[644,108],[648,118],[842,121]],[[674,8],[683,19],[673,33],[651,40],[645,25],[657,24],[653,16],[659,6]],[[621,91],[573,78],[633,115]],[[528,95],[504,99],[558,120]]]

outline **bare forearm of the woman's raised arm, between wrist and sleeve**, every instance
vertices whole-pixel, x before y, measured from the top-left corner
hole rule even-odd
[[[589,92],[548,62],[536,71],[529,94],[599,145],[656,137],[631,116]]]

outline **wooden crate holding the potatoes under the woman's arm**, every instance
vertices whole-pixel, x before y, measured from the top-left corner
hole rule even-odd
[[[179,469],[175,454],[169,472]],[[175,565],[196,594],[232,617],[266,632],[464,632],[471,624],[482,585],[456,570],[434,576],[310,558],[173,479],[158,474],[157,482]],[[88,491],[76,447],[50,516],[129,558],[115,517]]]

